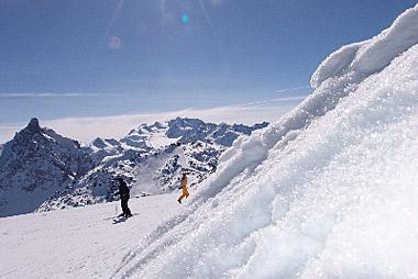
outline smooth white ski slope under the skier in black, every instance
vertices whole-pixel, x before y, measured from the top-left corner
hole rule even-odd
[[[0,219],[0,278],[109,278],[160,222],[182,210],[177,194],[130,200],[133,213],[113,222],[119,202]]]

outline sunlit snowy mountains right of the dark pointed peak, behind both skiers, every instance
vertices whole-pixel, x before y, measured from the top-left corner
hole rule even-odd
[[[220,155],[241,135],[265,127],[267,123],[228,125],[182,119],[141,124],[120,141],[95,140],[84,150],[96,161],[78,183],[56,192],[41,211],[113,201],[114,177],[123,177],[131,194],[157,194],[179,187],[182,172],[190,187],[213,174]]]

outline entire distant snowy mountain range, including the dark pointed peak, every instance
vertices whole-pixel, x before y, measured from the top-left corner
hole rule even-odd
[[[120,141],[96,138],[80,146],[32,119],[0,145],[0,216],[113,201],[117,176],[132,196],[172,191],[184,171],[195,187],[216,171],[219,156],[237,137],[267,124],[177,118],[141,124]]]

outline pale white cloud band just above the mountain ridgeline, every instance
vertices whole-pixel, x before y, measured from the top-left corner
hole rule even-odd
[[[286,101],[284,101],[285,99]],[[64,136],[80,141],[84,144],[88,144],[98,136],[119,140],[141,123],[167,121],[177,116],[198,118],[207,122],[226,122],[230,124],[254,124],[263,121],[275,122],[283,114],[295,108],[302,99],[304,97],[293,99],[282,98],[271,101],[217,107],[204,110],[189,108],[186,110],[165,113],[122,114],[97,118],[66,118],[40,121],[42,126],[52,127]],[[26,123],[0,124],[0,143],[9,141],[16,131],[21,130],[25,125]]]

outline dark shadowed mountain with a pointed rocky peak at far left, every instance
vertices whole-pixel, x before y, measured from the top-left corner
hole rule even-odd
[[[73,140],[36,119],[4,144],[0,156],[0,216],[36,210],[47,198],[70,188],[94,166]]]

